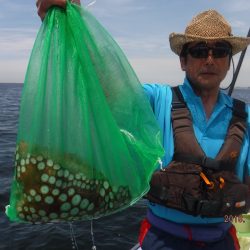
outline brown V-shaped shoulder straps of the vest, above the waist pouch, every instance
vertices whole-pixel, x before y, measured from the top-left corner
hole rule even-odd
[[[207,157],[193,131],[192,116],[179,86],[172,88],[173,160],[200,165],[212,170],[234,171],[246,131],[245,103],[233,99],[232,119],[225,141],[215,159]]]

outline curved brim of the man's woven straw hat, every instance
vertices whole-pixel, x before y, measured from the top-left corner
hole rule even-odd
[[[180,55],[182,47],[186,43],[199,42],[199,41],[218,41],[223,40],[231,44],[232,54],[235,55],[240,51],[244,50],[250,44],[249,37],[236,37],[236,36],[226,36],[226,37],[201,37],[195,35],[186,35],[179,33],[171,33],[169,35],[169,42],[172,51]]]

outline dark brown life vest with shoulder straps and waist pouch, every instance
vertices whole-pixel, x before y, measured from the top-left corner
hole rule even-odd
[[[246,212],[248,186],[235,174],[247,127],[245,103],[233,100],[227,135],[213,159],[206,156],[196,140],[192,116],[179,88],[172,92],[174,156],[166,168],[153,174],[147,199],[195,216]]]

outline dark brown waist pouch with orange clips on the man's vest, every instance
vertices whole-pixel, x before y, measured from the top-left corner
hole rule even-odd
[[[147,197],[194,216],[239,215],[246,212],[248,186],[229,171],[205,173],[199,165],[172,162],[153,174]]]

